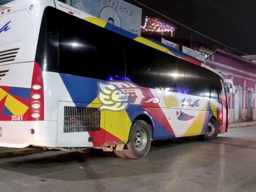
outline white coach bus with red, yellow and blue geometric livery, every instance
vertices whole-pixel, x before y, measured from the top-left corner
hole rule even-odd
[[[0,146],[114,151],[228,130],[233,83],[193,57],[57,0],[0,6]]]

